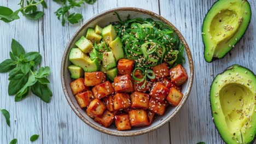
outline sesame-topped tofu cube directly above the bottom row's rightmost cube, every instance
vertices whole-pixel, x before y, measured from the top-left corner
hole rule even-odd
[[[141,92],[131,94],[131,108],[148,109],[149,95]]]

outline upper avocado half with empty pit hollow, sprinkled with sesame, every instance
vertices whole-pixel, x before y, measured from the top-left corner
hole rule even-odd
[[[235,46],[249,26],[251,12],[246,0],[219,0],[212,5],[202,25],[206,62],[223,58]]]

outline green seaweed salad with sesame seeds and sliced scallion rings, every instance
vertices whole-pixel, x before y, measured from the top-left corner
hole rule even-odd
[[[154,71],[150,69],[155,65],[166,62],[172,68],[185,62],[184,45],[172,27],[150,18],[128,17],[122,21],[118,13],[115,14],[119,21],[113,26],[122,40],[126,57],[135,61],[135,68],[140,68],[144,75],[143,79],[137,79],[138,83],[144,81],[145,85],[147,78],[154,79]],[[136,79],[135,70],[133,79]]]

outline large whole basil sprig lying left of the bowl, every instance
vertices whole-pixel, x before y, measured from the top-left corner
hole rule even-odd
[[[50,74],[50,68],[41,67],[36,70],[41,60],[40,53],[26,53],[18,41],[11,41],[10,59],[0,63],[0,73],[9,71],[8,94],[15,95],[15,101],[24,99],[31,89],[33,94],[49,103],[53,95],[48,87],[50,81],[46,78]]]

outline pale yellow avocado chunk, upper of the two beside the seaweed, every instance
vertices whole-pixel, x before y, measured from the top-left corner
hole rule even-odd
[[[111,41],[117,37],[117,32],[115,32],[115,28],[112,25],[108,25],[102,29],[102,37],[103,40],[109,44]]]

